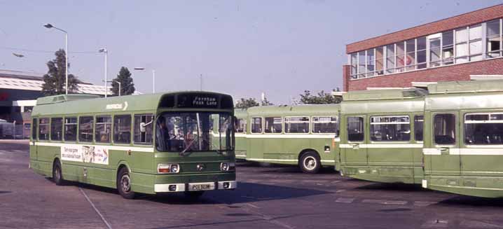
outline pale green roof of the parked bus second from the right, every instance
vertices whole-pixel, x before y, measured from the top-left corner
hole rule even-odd
[[[355,90],[343,94],[343,101],[364,101],[383,99],[416,99],[425,97],[427,91],[420,88]]]

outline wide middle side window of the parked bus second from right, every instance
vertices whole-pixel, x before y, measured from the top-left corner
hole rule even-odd
[[[411,120],[408,116],[371,117],[371,141],[411,140]]]

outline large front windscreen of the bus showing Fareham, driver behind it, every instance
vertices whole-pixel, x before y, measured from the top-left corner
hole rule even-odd
[[[156,148],[161,152],[233,150],[230,113],[163,113],[156,121]]]

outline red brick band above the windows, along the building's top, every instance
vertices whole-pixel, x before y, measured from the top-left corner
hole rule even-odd
[[[374,48],[377,46],[384,46],[389,43],[414,39],[429,34],[436,34],[438,32],[443,32],[450,29],[456,29],[459,27],[466,27],[469,25],[474,25],[481,22],[502,18],[502,15],[503,15],[503,4],[492,6],[489,8],[483,8],[478,11],[464,13],[462,15],[457,15],[452,18],[446,18],[425,25],[404,29],[399,32],[385,34],[383,36],[376,36],[374,38],[366,39],[364,41],[350,43],[346,46],[346,53],[348,54],[354,53],[357,51],[367,50],[369,48]]]

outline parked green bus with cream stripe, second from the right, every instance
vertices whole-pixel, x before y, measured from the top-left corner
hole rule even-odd
[[[340,173],[379,182],[421,183],[422,89],[347,92],[340,105]]]

